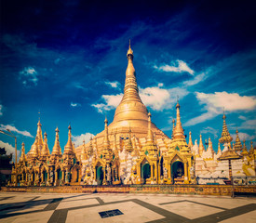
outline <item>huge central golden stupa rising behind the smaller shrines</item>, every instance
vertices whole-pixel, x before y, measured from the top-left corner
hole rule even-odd
[[[108,134],[110,144],[113,145],[115,138],[117,139],[116,144],[118,147],[118,138],[127,137],[129,134],[131,136],[136,136],[136,138],[143,138],[141,141],[145,141],[148,133],[148,110],[146,106],[141,101],[139,95],[139,88],[136,81],[136,72],[133,66],[133,51],[128,47],[128,68],[126,71],[126,81],[124,87],[124,96],[115,110],[115,116],[113,123],[108,126]],[[165,135],[159,128],[152,123],[152,132],[154,133],[155,140],[159,139],[159,144],[164,146],[165,138],[170,139]],[[101,151],[103,145],[104,130],[97,134],[94,138],[95,147]],[[88,149],[89,143],[85,145]],[[80,153],[83,149],[83,145],[76,148],[76,152]]]

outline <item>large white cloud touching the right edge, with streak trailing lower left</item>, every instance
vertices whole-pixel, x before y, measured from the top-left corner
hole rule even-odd
[[[225,111],[250,111],[256,107],[256,98],[249,96],[239,96],[237,93],[215,92],[214,94],[205,94],[195,92],[195,97],[200,104],[205,104],[204,110],[207,111],[186,122],[184,126],[196,125],[206,120],[212,119]]]

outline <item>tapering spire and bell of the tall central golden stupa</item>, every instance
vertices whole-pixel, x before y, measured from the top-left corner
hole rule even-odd
[[[126,71],[126,83],[124,88],[124,96],[115,110],[114,123],[117,122],[126,122],[130,120],[131,122],[136,122],[136,120],[147,121],[147,108],[142,103],[139,89],[136,81],[136,73],[133,67],[133,51],[128,48],[128,68]],[[121,125],[121,124],[120,124]],[[118,126],[118,125],[117,125]]]

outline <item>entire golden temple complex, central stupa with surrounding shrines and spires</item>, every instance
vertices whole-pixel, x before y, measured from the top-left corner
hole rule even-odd
[[[223,116],[222,138],[224,144],[218,152],[213,150],[209,138],[207,151],[202,136],[199,145],[186,142],[181,121],[181,106],[176,105],[176,122],[173,120],[172,136],[168,138],[151,121],[151,113],[141,101],[133,67],[133,51],[128,48],[128,68],[124,96],[115,110],[112,124],[104,121],[104,130],[90,141],[74,149],[69,126],[68,142],[61,154],[59,130],[56,129],[52,153],[47,147],[47,134],[42,138],[41,124],[31,151],[22,153],[20,162],[13,169],[14,181],[20,185],[117,185],[117,184],[193,184],[204,177],[229,178],[255,176],[256,150],[251,144],[248,151],[242,147],[238,132],[232,147],[232,138]],[[232,155],[232,156],[231,156]],[[231,161],[232,159],[235,159]]]

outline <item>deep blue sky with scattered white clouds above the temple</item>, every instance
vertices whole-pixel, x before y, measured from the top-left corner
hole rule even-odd
[[[169,137],[179,96],[194,141],[201,133],[217,151],[224,107],[230,133],[256,142],[255,3],[120,2],[2,2],[0,129],[18,149],[30,150],[38,112],[50,151],[57,126],[63,151],[68,125],[79,145],[112,122],[129,39],[142,101]]]

